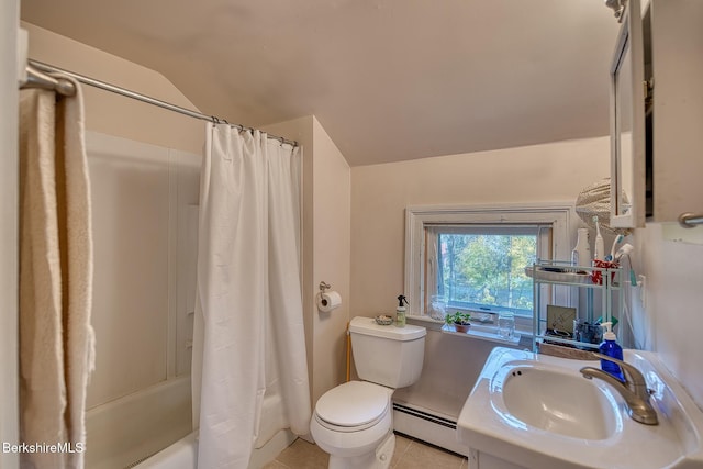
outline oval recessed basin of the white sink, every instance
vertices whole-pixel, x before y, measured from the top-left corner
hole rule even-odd
[[[505,412],[515,423],[583,439],[605,439],[622,421],[609,389],[592,380],[535,365],[501,369],[491,382]]]

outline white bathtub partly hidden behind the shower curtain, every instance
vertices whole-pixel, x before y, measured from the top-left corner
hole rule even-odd
[[[86,467],[194,468],[198,442],[190,395],[190,376],[183,376],[90,409]],[[272,392],[264,398],[250,468],[265,466],[295,440],[292,433],[280,429],[286,426],[280,393]]]

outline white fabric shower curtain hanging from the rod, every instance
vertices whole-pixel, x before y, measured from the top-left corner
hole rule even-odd
[[[300,175],[298,147],[208,125],[192,375],[200,469],[247,467],[269,392],[291,431],[308,433]]]

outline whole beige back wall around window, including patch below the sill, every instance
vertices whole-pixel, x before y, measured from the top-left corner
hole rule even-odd
[[[394,311],[403,291],[405,206],[576,201],[607,176],[609,152],[610,138],[601,137],[354,167],[353,315]],[[493,345],[428,331],[421,379],[394,399],[456,418]]]

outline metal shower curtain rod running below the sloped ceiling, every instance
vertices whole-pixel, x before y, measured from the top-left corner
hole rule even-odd
[[[102,90],[110,91],[110,92],[113,92],[113,93],[116,93],[116,94],[121,94],[121,96],[124,96],[124,97],[127,97],[127,98],[132,98],[132,99],[135,99],[137,101],[145,102],[147,104],[157,105],[159,108],[163,108],[163,109],[166,109],[166,110],[169,110],[169,111],[174,111],[174,112],[178,112],[180,114],[185,114],[185,115],[188,115],[190,118],[199,119],[201,121],[210,121],[210,122],[213,122],[213,123],[225,123],[225,124],[228,124],[228,125],[231,125],[233,127],[237,127],[241,131],[254,132],[254,129],[252,129],[252,127],[247,127],[247,126],[242,125],[242,124],[231,124],[224,119],[220,119],[220,118],[216,118],[214,115],[207,115],[207,114],[203,114],[203,113],[197,112],[197,111],[191,111],[190,109],[181,108],[180,105],[171,104],[170,102],[161,101],[161,100],[158,100],[156,98],[150,98],[150,97],[145,96],[145,94],[141,94],[141,93],[137,93],[137,92],[134,92],[134,91],[131,91],[131,90],[127,90],[127,89],[124,89],[124,88],[116,87],[114,85],[107,83],[104,81],[96,80],[94,78],[86,77],[85,75],[76,74],[75,71],[65,70],[63,68],[58,68],[58,67],[55,67],[53,65],[44,64],[42,62],[33,60],[33,59],[29,59],[27,63],[29,63],[29,65],[27,65],[27,78],[29,78],[27,79],[27,83],[33,85],[33,86],[38,86],[38,87],[42,87],[42,88],[53,87],[60,94],[66,94],[66,92],[62,92],[60,88],[57,88],[56,82],[60,83],[60,80],[56,80],[53,77],[48,77],[48,76],[44,75],[43,72],[64,74],[64,75],[67,75],[69,77],[75,78],[76,80],[80,81],[81,83],[89,85],[89,86],[94,87],[94,88],[100,88]],[[32,68],[34,68],[34,70],[32,70]],[[269,138],[271,138],[271,139],[279,141],[281,144],[290,144],[290,145],[293,145],[293,146],[298,146],[298,142],[295,142],[295,141],[289,141],[287,138],[279,137],[279,136],[271,135],[271,134],[267,134],[267,136]]]

